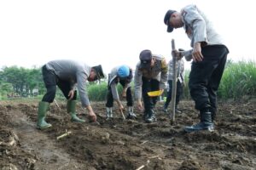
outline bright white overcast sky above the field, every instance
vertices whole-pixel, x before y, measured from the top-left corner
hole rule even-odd
[[[228,59],[255,61],[251,0],[8,0],[0,1],[0,68],[74,59],[108,74],[117,65],[135,68],[143,49],[170,60],[172,39],[184,49],[190,41],[183,28],[167,33],[164,15],[191,3],[224,37]]]

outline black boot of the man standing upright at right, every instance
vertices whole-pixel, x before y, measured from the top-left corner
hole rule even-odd
[[[211,112],[201,113],[201,122],[191,127],[184,127],[184,131],[186,131],[187,133],[200,131],[200,130],[208,130],[210,132],[214,130]]]

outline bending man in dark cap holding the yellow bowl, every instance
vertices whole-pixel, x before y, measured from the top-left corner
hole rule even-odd
[[[148,96],[148,92],[165,89],[168,70],[166,59],[152,54],[148,49],[143,50],[139,58],[140,62],[137,63],[134,76],[135,99],[138,109],[143,111],[141,101],[143,95],[145,122],[154,122],[156,120],[154,105],[157,97]]]

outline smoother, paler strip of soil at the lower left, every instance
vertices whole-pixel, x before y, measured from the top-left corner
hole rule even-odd
[[[9,111],[14,132],[19,136],[20,148],[32,153],[36,160],[29,167],[39,169],[84,169],[83,164],[74,160],[65,150],[56,146],[56,140],[36,128],[28,116],[21,111]]]

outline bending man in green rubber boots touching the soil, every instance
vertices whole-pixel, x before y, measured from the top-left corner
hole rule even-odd
[[[70,114],[72,122],[85,122],[76,114],[76,86],[82,106],[88,110],[90,119],[96,122],[96,114],[90,106],[86,92],[86,81],[94,82],[104,77],[102,65],[90,67],[73,60],[53,60],[43,66],[42,73],[47,92],[38,105],[38,128],[51,127],[51,124],[45,121],[45,116],[49,110],[49,104],[55,99],[56,86],[61,89],[67,99],[67,113]]]

